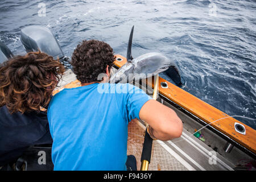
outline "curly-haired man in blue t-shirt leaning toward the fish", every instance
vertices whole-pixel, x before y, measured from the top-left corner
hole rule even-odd
[[[113,62],[113,49],[98,40],[84,40],[73,52],[82,86],[62,90],[48,106],[55,170],[126,170],[127,125],[135,118],[151,126],[152,137],[180,137],[183,125],[172,109],[136,86],[108,83]],[[100,73],[106,76],[99,81]]]

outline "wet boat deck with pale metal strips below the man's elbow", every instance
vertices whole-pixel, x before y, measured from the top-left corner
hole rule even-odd
[[[141,166],[141,153],[143,146],[143,134],[146,127],[142,121],[129,123],[127,155],[134,155],[137,159],[137,168]],[[190,137],[189,137],[190,136]],[[216,157],[213,156],[216,154]],[[215,162],[216,161],[216,162]],[[212,148],[191,136],[187,130],[183,130],[180,138],[163,142],[154,140],[152,146],[151,163],[148,170],[167,171],[214,171],[233,170],[234,165]]]

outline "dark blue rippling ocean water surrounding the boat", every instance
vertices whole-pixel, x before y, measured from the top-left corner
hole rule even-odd
[[[256,118],[256,1],[0,1],[0,41],[25,54],[20,29],[42,25],[71,56],[84,39],[103,40],[133,57],[161,52],[174,60],[183,89],[229,115]],[[160,75],[170,80],[166,75]],[[256,121],[237,118],[256,129]]]

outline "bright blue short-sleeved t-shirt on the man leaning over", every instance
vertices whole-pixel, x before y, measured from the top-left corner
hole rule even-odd
[[[150,100],[131,84],[64,89],[48,106],[55,170],[126,170],[127,125]]]

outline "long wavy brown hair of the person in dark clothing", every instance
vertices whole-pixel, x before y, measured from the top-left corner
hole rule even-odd
[[[46,107],[65,69],[52,56],[30,52],[0,65],[0,106],[10,113],[39,111]]]

